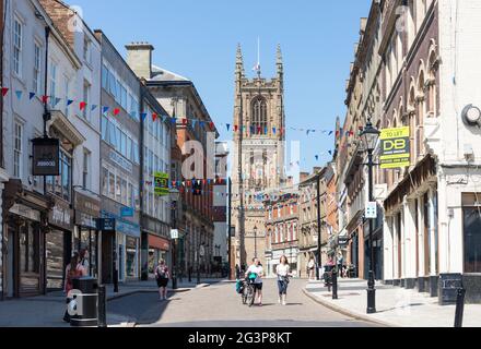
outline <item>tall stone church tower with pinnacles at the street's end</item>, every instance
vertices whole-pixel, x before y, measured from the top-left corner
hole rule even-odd
[[[277,76],[246,77],[241,46],[235,68],[232,224],[235,263],[249,265],[257,256],[266,265],[263,194],[285,184],[284,70],[281,47]],[[242,173],[242,177],[241,177]]]

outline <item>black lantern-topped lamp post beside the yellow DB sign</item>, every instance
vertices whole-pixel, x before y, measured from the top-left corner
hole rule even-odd
[[[367,119],[367,124],[361,133],[362,141],[364,143],[364,147],[367,151],[367,168],[368,168],[368,191],[369,191],[369,202],[374,202],[373,195],[373,152],[376,148],[377,140],[379,139],[380,132],[376,130],[372,122],[371,118]],[[374,288],[374,241],[373,241],[373,229],[374,221],[369,219],[369,276],[367,280],[367,314],[376,313],[376,290]]]

